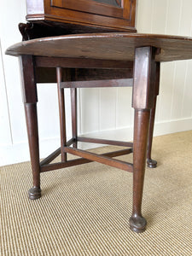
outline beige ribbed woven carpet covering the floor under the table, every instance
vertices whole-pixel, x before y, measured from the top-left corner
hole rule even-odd
[[[191,256],[192,131],[155,137],[153,158],[158,167],[146,168],[142,234],[129,229],[129,172],[98,163],[44,172],[42,197],[30,201],[30,163],[1,167],[1,255]]]

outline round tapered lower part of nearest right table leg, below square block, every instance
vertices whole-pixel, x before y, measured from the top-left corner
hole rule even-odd
[[[133,143],[133,211],[130,218],[131,230],[138,233],[145,230],[147,221],[142,216],[143,181],[146,147],[148,142],[149,110],[135,110]]]

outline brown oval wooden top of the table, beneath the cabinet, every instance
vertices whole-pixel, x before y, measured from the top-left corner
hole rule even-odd
[[[126,32],[38,38],[14,44],[6,54],[133,61],[141,46],[159,48],[156,61],[192,59],[192,38]]]

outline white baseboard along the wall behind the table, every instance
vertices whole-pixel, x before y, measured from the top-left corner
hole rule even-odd
[[[192,118],[165,121],[155,124],[154,137],[189,130],[192,130]],[[115,130],[95,131],[81,136],[115,139],[119,141],[131,141],[133,137],[132,135],[133,128],[132,126],[130,126]],[[56,148],[59,148],[59,145],[59,137],[48,138],[40,141],[41,157],[46,157],[47,155],[52,153]],[[97,148],[101,146],[101,144],[79,143],[79,148],[82,149]],[[17,143],[13,145],[5,145],[0,147],[0,166],[11,165],[28,160],[30,160],[30,157],[28,144],[26,142]]]

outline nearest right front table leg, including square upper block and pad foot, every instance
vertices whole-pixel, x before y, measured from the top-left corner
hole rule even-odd
[[[142,215],[143,182],[148,145],[150,111],[154,105],[156,63],[155,49],[137,48],[134,64],[132,107],[135,109],[133,140],[133,208],[131,230],[140,233],[147,221]]]

